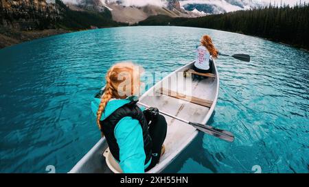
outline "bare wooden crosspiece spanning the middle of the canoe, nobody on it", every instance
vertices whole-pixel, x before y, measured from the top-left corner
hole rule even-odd
[[[184,101],[189,101],[190,103],[202,105],[202,106],[205,106],[207,108],[211,108],[211,105],[212,105],[212,102],[213,102],[213,101],[201,99],[201,98],[198,98],[198,97],[187,96],[187,95],[181,94],[179,92],[174,92],[172,90],[168,90],[166,88],[160,88],[159,90],[157,90],[157,92],[161,93],[162,95],[168,95],[168,96],[174,97],[176,99],[182,99]]]

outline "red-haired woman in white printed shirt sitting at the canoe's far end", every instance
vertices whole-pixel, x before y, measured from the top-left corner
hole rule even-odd
[[[194,71],[198,73],[212,73],[212,60],[218,58],[218,50],[214,47],[210,36],[201,38],[201,45],[196,49]]]

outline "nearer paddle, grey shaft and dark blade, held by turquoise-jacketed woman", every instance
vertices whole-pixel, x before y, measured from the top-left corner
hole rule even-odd
[[[140,105],[143,105],[146,108],[150,108],[148,105],[146,105],[144,103],[140,103],[140,102],[138,102],[138,103]],[[201,132],[205,132],[206,134],[209,134],[211,136],[216,136],[217,138],[220,138],[222,140],[226,140],[228,142],[233,142],[233,140],[234,140],[234,136],[233,136],[233,134],[231,134],[231,132],[227,132],[227,131],[221,130],[221,129],[216,129],[214,127],[211,127],[209,125],[203,125],[201,123],[193,123],[191,121],[186,121],[184,119],[181,119],[181,118],[179,118],[177,116],[173,116],[173,115],[168,114],[166,112],[162,112],[162,111],[159,111],[159,112],[161,114],[166,115],[166,116],[170,116],[173,119],[182,121],[183,123],[187,123],[189,125],[192,125],[193,127],[195,127],[196,129],[200,130]]]

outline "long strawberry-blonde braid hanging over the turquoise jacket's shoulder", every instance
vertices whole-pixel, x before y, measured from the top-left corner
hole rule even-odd
[[[111,74],[111,71],[107,73],[104,95],[102,95],[101,97],[101,102],[100,102],[99,109],[97,112],[97,124],[99,126],[99,129],[101,129],[100,119],[101,119],[102,113],[104,112],[107,102],[111,100],[111,98],[113,97],[113,88],[111,87],[111,79],[109,78],[110,74]]]

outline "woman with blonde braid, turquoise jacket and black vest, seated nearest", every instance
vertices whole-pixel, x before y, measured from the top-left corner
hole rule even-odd
[[[115,64],[106,74],[102,97],[91,103],[102,136],[124,173],[144,173],[155,166],[167,132],[157,108],[142,111],[137,106],[141,71],[132,62]]]

